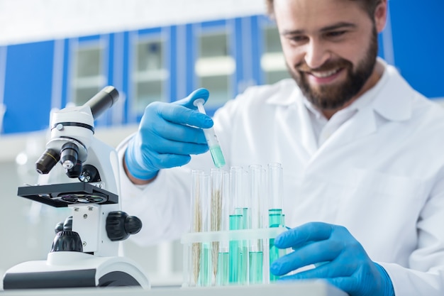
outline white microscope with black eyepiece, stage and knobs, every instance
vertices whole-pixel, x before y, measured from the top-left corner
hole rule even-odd
[[[46,261],[28,261],[6,271],[4,290],[150,287],[135,263],[118,256],[119,241],[137,234],[142,222],[121,211],[116,150],[94,138],[94,119],[117,100],[118,91],[108,86],[83,106],[52,114],[50,141],[35,168],[45,175],[60,163],[70,182],[18,187],[18,196],[68,207],[72,216],[55,226]]]

